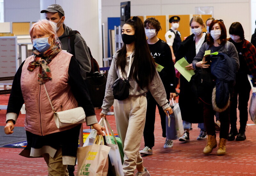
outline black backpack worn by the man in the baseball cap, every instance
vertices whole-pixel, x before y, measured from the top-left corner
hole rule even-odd
[[[78,31],[69,31],[68,35],[68,48],[69,52],[75,57],[75,37]],[[80,34],[80,33],[79,33]],[[105,89],[107,78],[100,73],[100,67],[98,62],[92,57],[92,53],[89,47],[88,51],[91,59],[91,71],[86,73],[85,83],[88,87],[90,98],[93,107],[101,107],[105,96]]]

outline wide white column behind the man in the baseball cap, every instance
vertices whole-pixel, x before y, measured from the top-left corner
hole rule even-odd
[[[91,49],[92,56],[97,60],[99,65],[102,66],[100,36],[101,0],[55,0],[55,2],[56,4],[60,4],[65,12],[64,23],[71,27],[72,30],[77,30],[81,33]]]

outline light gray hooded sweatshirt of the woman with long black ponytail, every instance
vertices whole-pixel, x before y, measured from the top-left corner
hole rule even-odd
[[[132,62],[134,59],[133,56],[134,53],[132,53]],[[117,59],[118,51],[116,51],[113,55],[113,59],[111,62],[111,66],[108,72],[108,79],[107,79],[107,85],[106,85],[106,90],[105,90],[105,98],[103,100],[103,104],[101,106],[102,114],[107,114],[108,111],[110,110],[110,107],[114,103],[114,95],[113,95],[113,88],[112,85],[121,79],[119,75],[119,70],[116,70],[116,59]],[[127,72],[129,70],[129,61],[130,57],[126,58],[126,65],[125,65],[125,73],[122,73],[122,76],[124,79],[127,80]],[[129,96],[146,96],[146,92],[150,90],[152,93],[153,97],[156,99],[156,102],[163,107],[165,110],[166,108],[170,107],[168,104],[168,100],[166,99],[166,92],[164,90],[164,85],[161,81],[161,78],[159,77],[157,71],[155,74],[154,79],[152,82],[148,85],[148,87],[144,87],[143,89],[140,88],[139,84],[133,79],[130,78],[129,80],[130,88],[129,88]]]

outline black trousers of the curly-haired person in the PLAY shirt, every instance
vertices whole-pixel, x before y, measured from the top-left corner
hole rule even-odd
[[[166,95],[167,99],[170,99],[170,93],[167,93]],[[164,113],[164,110],[161,106],[159,106],[152,96],[152,94],[148,91],[147,92],[147,113],[146,113],[146,122],[145,122],[145,128],[143,131],[144,135],[144,142],[145,147],[148,146],[149,148],[152,148],[155,145],[155,136],[154,136],[154,130],[155,130],[155,119],[156,119],[156,106],[158,108],[160,118],[161,118],[161,126],[162,126],[162,136],[166,137],[166,114]]]

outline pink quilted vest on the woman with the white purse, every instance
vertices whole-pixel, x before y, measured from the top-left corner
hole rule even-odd
[[[52,80],[46,82],[45,87],[56,112],[78,107],[68,84],[68,66],[71,56],[71,54],[62,50],[49,63]],[[73,128],[76,125],[57,128],[44,85],[37,82],[39,67],[32,72],[27,70],[28,64],[33,60],[33,56],[26,59],[20,78],[21,91],[26,105],[25,130],[36,135],[45,136]]]

